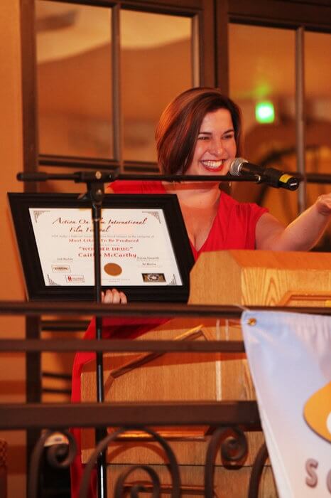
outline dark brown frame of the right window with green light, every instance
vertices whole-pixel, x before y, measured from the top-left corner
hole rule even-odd
[[[331,6],[326,0],[215,0],[216,85],[229,95],[229,23],[295,31],[295,127],[297,169],[305,176],[305,31],[331,33]],[[298,190],[298,213],[306,208],[305,183]]]

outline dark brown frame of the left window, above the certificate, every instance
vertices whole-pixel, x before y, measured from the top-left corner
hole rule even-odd
[[[52,1],[52,0],[44,0]],[[119,53],[119,12],[121,9],[192,18],[192,60],[194,85],[215,86],[213,0],[56,0],[64,3],[95,5],[112,9],[112,73],[114,159],[66,157],[39,154],[38,151],[38,92],[36,63],[35,1],[21,2],[21,54],[23,95],[23,169],[37,171],[38,166],[60,166],[68,169],[109,169],[121,171],[156,171],[152,162],[124,161],[121,115],[121,82]],[[212,26],[208,29],[207,26]],[[36,191],[36,185],[26,184],[25,191]]]

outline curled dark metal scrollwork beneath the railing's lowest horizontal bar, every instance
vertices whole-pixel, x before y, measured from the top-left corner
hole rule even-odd
[[[168,442],[154,430],[145,427],[126,427],[119,428],[114,433],[109,434],[101,440],[95,447],[92,455],[85,466],[82,482],[80,484],[80,498],[87,498],[89,492],[89,480],[92,470],[95,467],[99,454],[107,449],[108,445],[119,438],[120,435],[131,430],[139,430],[151,435],[153,440],[156,440],[165,451],[166,461],[168,462],[168,471],[170,472],[171,484],[167,484],[167,491],[172,498],[179,498],[184,489],[181,487],[179,465],[175,457],[175,453]],[[47,447],[45,457],[48,463],[58,469],[70,467],[76,454],[77,446],[75,438],[68,430],[45,430],[40,436],[36,446],[34,447],[31,457],[31,465],[28,480],[28,498],[37,498],[40,493],[40,468],[43,460],[45,444],[55,433],[60,433],[65,436],[67,444],[55,444]],[[220,450],[222,464],[225,467],[237,467],[242,465],[248,454],[248,445],[245,433],[238,427],[219,427],[215,430],[207,447],[205,459],[205,483],[204,487],[197,489],[189,489],[192,494],[202,494],[206,498],[216,496],[215,493],[215,461],[217,452]],[[249,498],[257,498],[259,494],[259,482],[264,468],[264,464],[268,457],[266,445],[262,445],[256,460],[254,461],[251,477],[249,480]],[[128,483],[127,480],[135,470],[143,470],[148,477],[148,481],[139,481]],[[185,487],[183,487],[185,488]],[[147,492],[153,498],[161,497],[161,492],[164,491],[164,485],[158,477],[156,470],[148,465],[131,465],[128,470],[122,472],[114,484],[114,498],[121,498],[125,494],[131,497],[138,497],[140,492]]]

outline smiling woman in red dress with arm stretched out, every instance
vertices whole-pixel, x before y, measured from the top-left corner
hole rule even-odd
[[[270,249],[309,250],[327,227],[331,194],[320,196],[313,206],[287,227],[266,208],[239,203],[219,190],[212,177],[227,174],[232,160],[241,154],[242,120],[239,107],[215,88],[192,88],[178,95],[161,115],[156,129],[158,164],[163,174],[210,175],[207,182],[115,181],[115,194],[176,194],[195,260],[210,250]],[[126,296],[107,290],[103,301],[125,304]],[[104,337],[134,338],[160,324],[159,319],[105,319]],[[95,337],[94,322],[85,334]],[[94,354],[77,354],[72,375],[72,401],[80,401],[82,365]],[[79,437],[79,430],[75,430]],[[81,474],[80,458],[73,467],[72,496]],[[93,488],[93,485],[92,485]],[[93,491],[92,491],[93,492]]]

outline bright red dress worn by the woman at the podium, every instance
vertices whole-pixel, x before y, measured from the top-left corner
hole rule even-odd
[[[115,194],[167,194],[161,181],[114,181],[111,185]],[[254,203],[239,203],[223,191],[219,198],[219,207],[210,233],[200,250],[196,250],[191,243],[195,260],[200,253],[212,250],[230,249],[255,249],[255,228],[259,218],[266,213],[266,208],[261,208]],[[148,330],[157,327],[167,319],[159,318],[104,318],[102,322],[102,335],[105,338],[134,339]],[[94,339],[94,320],[89,324],[85,339]],[[82,366],[95,358],[94,353],[77,353],[72,369],[72,402],[80,402],[80,375]],[[80,460],[80,429],[72,429],[77,440],[77,457],[72,465],[72,498],[78,497],[82,464]],[[90,497],[96,496],[95,475],[91,482]]]

